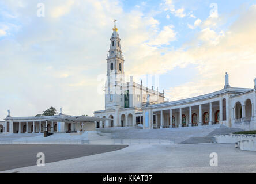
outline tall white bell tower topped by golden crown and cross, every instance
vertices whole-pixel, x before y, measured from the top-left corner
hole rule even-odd
[[[115,26],[110,38],[110,49],[107,55],[107,81],[105,90],[105,108],[118,109],[123,107],[122,83],[124,81],[124,58],[121,49],[121,39]]]

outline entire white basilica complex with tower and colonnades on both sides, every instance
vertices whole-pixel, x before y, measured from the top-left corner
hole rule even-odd
[[[10,110],[0,121],[0,133],[70,133],[95,128],[140,126],[144,129],[183,128],[223,124],[227,127],[256,129],[256,78],[253,88],[231,87],[225,74],[223,89],[178,101],[165,101],[164,90],[148,88],[133,76],[126,81],[125,59],[116,25],[107,55],[104,86],[105,109],[94,117],[60,114],[41,117],[12,117]]]

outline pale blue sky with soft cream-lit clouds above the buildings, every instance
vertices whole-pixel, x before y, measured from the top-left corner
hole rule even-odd
[[[221,90],[225,72],[254,87],[256,1],[1,0],[0,121],[103,110],[114,19],[125,74],[156,75],[166,100]]]

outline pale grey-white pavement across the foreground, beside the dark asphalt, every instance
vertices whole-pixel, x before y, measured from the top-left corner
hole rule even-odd
[[[210,153],[218,154],[211,167]],[[46,158],[47,159],[47,158]],[[256,172],[256,154],[234,144],[130,145],[122,150],[6,172]]]

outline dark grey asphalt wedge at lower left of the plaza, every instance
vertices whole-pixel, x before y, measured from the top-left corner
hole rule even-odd
[[[35,166],[37,153],[45,155],[45,163],[80,158],[126,148],[128,145],[46,145],[0,144],[0,171]]]

